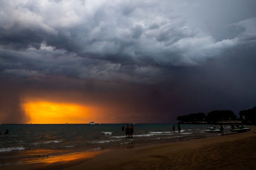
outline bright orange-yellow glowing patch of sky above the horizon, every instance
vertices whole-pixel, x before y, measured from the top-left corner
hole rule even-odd
[[[24,110],[31,118],[31,123],[89,123],[95,109],[72,103],[27,102]],[[28,122],[30,123],[30,122]]]

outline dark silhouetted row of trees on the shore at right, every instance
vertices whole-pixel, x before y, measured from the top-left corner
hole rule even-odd
[[[206,116],[204,113],[192,113],[184,116],[178,116],[180,122],[218,122],[218,121],[243,121],[256,124],[256,107],[248,110],[242,110],[237,117],[231,110],[213,110]]]

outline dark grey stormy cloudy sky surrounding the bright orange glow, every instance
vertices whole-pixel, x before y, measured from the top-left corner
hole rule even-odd
[[[238,115],[256,106],[255,9],[255,0],[1,0],[0,123],[28,122],[32,98],[106,108],[106,123]]]

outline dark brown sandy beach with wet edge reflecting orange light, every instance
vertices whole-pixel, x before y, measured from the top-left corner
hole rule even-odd
[[[256,126],[244,133],[167,144],[78,153],[0,167],[1,170],[252,170]]]

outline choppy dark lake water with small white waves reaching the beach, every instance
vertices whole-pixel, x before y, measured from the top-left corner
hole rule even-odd
[[[178,142],[220,135],[204,132],[216,125],[134,124],[133,138],[126,138],[126,124],[2,124],[0,125],[0,166],[83,151],[132,148],[138,145]],[[175,125],[176,130],[177,124]],[[230,133],[230,126],[224,132]],[[9,135],[4,135],[6,130]]]

